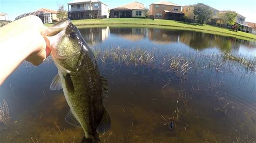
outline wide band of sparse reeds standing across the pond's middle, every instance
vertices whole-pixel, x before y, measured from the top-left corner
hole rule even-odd
[[[102,64],[115,63],[119,66],[147,67],[164,72],[171,72],[181,82],[193,78],[190,74],[198,76],[211,76],[214,74],[231,74],[237,76],[237,71],[254,74],[255,60],[246,60],[241,63],[227,60],[223,53],[184,52],[171,49],[156,49],[142,47],[107,47],[93,48],[93,53]],[[250,64],[249,64],[250,63]],[[254,65],[254,66],[252,66]],[[250,67],[250,68],[248,68]],[[249,70],[245,70],[249,69]],[[170,82],[165,81],[165,85]]]

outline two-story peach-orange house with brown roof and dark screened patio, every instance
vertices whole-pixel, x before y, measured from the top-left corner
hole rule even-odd
[[[171,2],[155,2],[150,5],[149,15],[156,19],[181,20],[184,13],[181,6]]]

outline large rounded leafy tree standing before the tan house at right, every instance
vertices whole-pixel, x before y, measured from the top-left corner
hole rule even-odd
[[[210,20],[212,13],[213,12],[208,5],[200,4],[194,7],[194,15],[197,16],[197,19],[200,21],[201,25]]]

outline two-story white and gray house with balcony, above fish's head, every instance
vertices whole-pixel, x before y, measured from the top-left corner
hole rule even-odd
[[[98,0],[75,0],[68,3],[70,19],[109,18],[109,6]]]

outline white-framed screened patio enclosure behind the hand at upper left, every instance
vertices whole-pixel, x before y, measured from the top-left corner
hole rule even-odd
[[[26,16],[31,16],[31,15],[39,17],[42,20],[43,24],[52,23],[51,13],[45,12],[45,11],[34,11],[34,12],[24,13],[23,15],[16,17],[15,20],[21,19]]]

